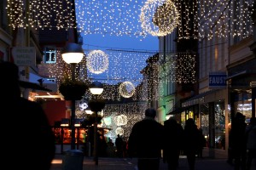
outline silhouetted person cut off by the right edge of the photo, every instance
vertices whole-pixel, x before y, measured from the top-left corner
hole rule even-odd
[[[250,123],[247,126],[247,168],[251,169],[253,159],[256,159],[256,117],[250,118]],[[256,167],[256,161],[255,167]]]

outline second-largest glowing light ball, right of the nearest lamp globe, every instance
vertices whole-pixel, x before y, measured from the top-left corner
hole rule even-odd
[[[101,74],[108,69],[108,54],[102,50],[93,50],[88,54],[86,62],[90,72]]]

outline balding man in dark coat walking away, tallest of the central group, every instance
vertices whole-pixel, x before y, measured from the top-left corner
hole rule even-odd
[[[134,124],[128,140],[128,153],[137,156],[139,170],[158,170],[163,149],[164,127],[154,120],[156,111],[149,108],[145,118]]]

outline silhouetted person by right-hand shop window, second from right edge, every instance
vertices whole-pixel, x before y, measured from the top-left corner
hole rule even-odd
[[[247,155],[247,139],[245,116],[240,112],[232,120],[232,127],[230,130],[230,144],[232,154],[235,160],[235,170],[246,168],[246,155]]]

